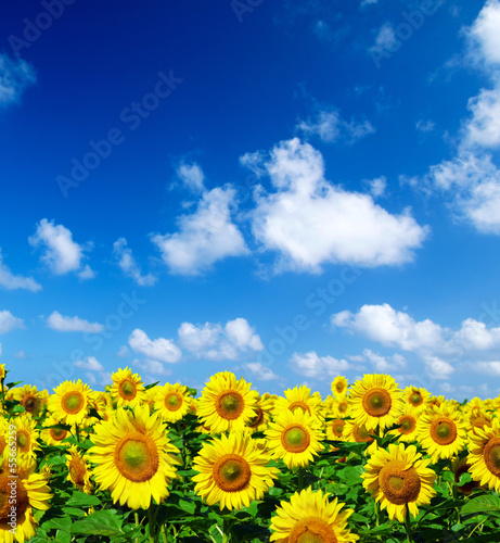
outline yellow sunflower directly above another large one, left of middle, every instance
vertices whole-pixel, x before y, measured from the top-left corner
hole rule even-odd
[[[243,431],[257,412],[258,392],[251,386],[243,378],[236,381],[231,371],[213,375],[197,401],[196,415],[202,425],[213,433]]]

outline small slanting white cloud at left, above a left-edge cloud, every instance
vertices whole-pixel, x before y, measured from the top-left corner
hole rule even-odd
[[[72,232],[63,225],[55,225],[53,220],[42,218],[37,225],[37,231],[29,239],[29,244],[41,247],[43,252],[41,261],[54,275],[77,273],[80,279],[91,279],[94,273],[84,264],[85,251],[91,244],[80,245],[73,241]]]

